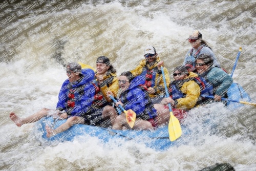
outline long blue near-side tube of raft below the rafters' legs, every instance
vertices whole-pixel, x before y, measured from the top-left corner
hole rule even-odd
[[[59,125],[66,122],[64,120],[54,121],[52,117],[45,117],[39,120],[36,123],[36,133],[41,135],[39,140],[42,143],[54,142],[58,144],[63,141],[73,141],[75,136],[84,136],[90,135],[92,137],[98,137],[103,142],[108,142],[110,139],[122,138],[126,140],[134,140],[136,142],[142,142],[146,146],[151,147],[156,150],[165,150],[171,145],[177,144],[178,141],[170,142],[168,126],[160,127],[153,131],[135,131],[135,130],[111,130],[104,127],[84,125],[84,124],[75,124],[70,127],[69,130],[66,130],[62,133],[59,133],[51,138],[46,137],[45,126],[52,126],[53,129],[56,129]],[[185,127],[182,126],[182,134],[185,133]]]

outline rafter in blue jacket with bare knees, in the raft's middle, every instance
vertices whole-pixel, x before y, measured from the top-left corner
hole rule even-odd
[[[148,130],[156,127],[156,109],[151,102],[146,91],[143,91],[142,85],[145,80],[141,76],[134,78],[131,72],[124,72],[118,78],[120,97],[116,106],[119,104],[125,110],[132,109],[136,113],[136,121],[133,129]],[[114,122],[113,129],[121,130],[128,129],[129,126],[125,120],[125,115],[122,113]]]

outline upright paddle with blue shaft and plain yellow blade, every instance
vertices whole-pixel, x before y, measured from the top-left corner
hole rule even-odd
[[[165,97],[168,97],[168,90],[167,90],[167,85],[165,81],[165,76],[163,72],[163,67],[161,66],[161,71],[163,75],[163,81],[164,81],[164,87],[165,87]],[[169,131],[169,139],[170,141],[175,141],[178,139],[181,134],[181,126],[179,120],[173,115],[173,110],[172,107],[170,106],[170,103],[168,103],[169,111],[170,111],[170,120],[169,120],[169,125],[168,125],[168,131]]]

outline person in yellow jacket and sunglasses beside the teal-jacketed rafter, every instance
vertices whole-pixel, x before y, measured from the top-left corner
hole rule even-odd
[[[184,66],[174,69],[175,81],[169,84],[169,98],[164,98],[162,104],[171,103],[173,108],[190,110],[194,108],[200,96],[200,79],[193,72],[188,72]]]

